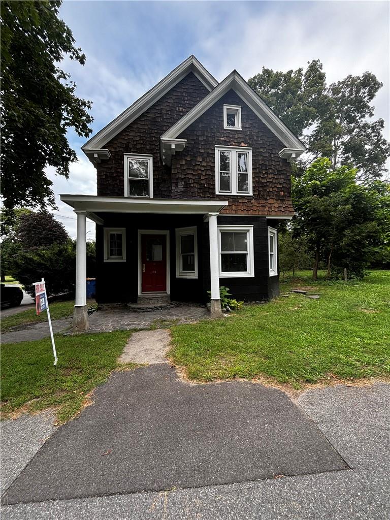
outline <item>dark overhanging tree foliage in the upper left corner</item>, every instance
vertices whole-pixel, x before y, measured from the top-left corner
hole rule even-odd
[[[56,207],[45,168],[68,178],[77,160],[68,128],[84,137],[92,132],[90,101],[75,96],[75,83],[58,66],[64,56],[85,62],[58,18],[60,6],[60,0],[1,2],[1,195],[8,210]]]

